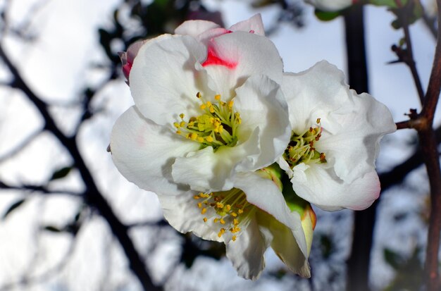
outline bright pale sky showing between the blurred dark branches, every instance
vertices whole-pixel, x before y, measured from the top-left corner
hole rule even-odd
[[[246,1],[233,0],[209,0],[206,6],[213,9],[221,9],[225,26],[228,27],[240,20],[262,13],[263,23],[268,27],[273,23],[277,13],[275,8],[265,8],[260,11],[249,8]],[[46,101],[60,104],[52,111],[56,120],[61,123],[63,130],[73,130],[73,120],[77,111],[70,104],[79,92],[82,84],[97,83],[102,76],[98,70],[91,70],[90,63],[103,59],[102,51],[97,49],[97,27],[111,25],[111,12],[119,0],[89,1],[49,1],[49,0],[14,0],[10,1],[9,18],[12,23],[25,25],[27,21],[28,31],[37,37],[32,45],[23,44],[15,37],[4,37],[0,41],[6,47],[8,54],[18,64],[21,72],[32,89]],[[37,7],[37,13],[30,17],[30,11]],[[85,9],[87,7],[87,9]],[[322,59],[334,63],[338,68],[345,70],[344,61],[344,35],[343,21],[338,18],[329,23],[323,23],[313,17],[313,10],[307,7],[305,11],[304,28],[299,29],[284,24],[271,35],[271,39],[282,56],[285,71],[299,72],[313,66]],[[368,44],[368,68],[370,72],[370,88],[373,96],[385,103],[392,111],[396,121],[404,120],[404,113],[410,108],[418,109],[418,98],[411,80],[411,75],[404,65],[387,65],[388,61],[395,60],[390,46],[399,41],[402,32],[393,30],[390,26],[393,20],[392,13],[384,8],[366,8],[366,41]],[[431,61],[433,59],[435,40],[429,34],[422,23],[411,26],[411,35],[415,44],[415,58],[418,71],[421,74],[423,87],[426,88],[430,74]],[[4,80],[5,73],[0,67],[0,81]],[[20,143],[25,137],[35,132],[42,126],[42,120],[32,109],[29,102],[20,94],[0,87],[0,102],[6,104],[0,108],[0,157]],[[154,221],[161,218],[159,204],[154,194],[137,190],[137,187],[125,181],[111,162],[110,156],[105,152],[108,144],[111,126],[120,113],[132,105],[132,99],[128,87],[123,80],[118,80],[101,90],[99,97],[94,101],[95,108],[104,109],[104,113],[90,120],[80,132],[80,144],[82,152],[87,158],[87,163],[92,171],[97,174],[97,182],[103,192],[107,193],[108,199],[116,209],[118,215],[125,222]],[[25,116],[25,118],[23,118]],[[437,124],[440,124],[439,110]],[[378,168],[385,170],[391,165],[398,163],[406,154],[410,154],[406,141],[412,134],[409,130],[402,130],[394,135],[394,139],[386,138],[386,146],[380,152]],[[47,151],[51,148],[53,150]],[[399,154],[397,154],[397,152]],[[14,159],[0,163],[0,178],[8,182],[39,183],[51,175],[51,168],[66,165],[68,156],[64,153],[49,135],[41,135],[22,154]],[[26,166],[23,166],[26,165]],[[412,179],[421,179],[424,173],[418,172]],[[55,183],[53,187],[66,187],[80,190],[78,174],[73,173],[63,183]],[[65,183],[66,182],[66,183]],[[425,188],[421,190],[424,192]],[[388,205],[399,208],[411,207],[413,199],[402,196],[402,199],[393,199],[392,194],[385,196]],[[17,199],[15,193],[4,193],[0,198],[0,213],[4,213],[7,207]],[[70,237],[64,235],[41,235],[37,237],[32,231],[39,224],[62,223],[75,215],[77,207],[80,207],[77,199],[73,197],[54,197],[42,199],[37,197],[23,206],[23,209],[13,213],[7,221],[0,223],[0,237],[8,237],[0,240],[0,287],[13,278],[20,278],[20,270],[32,268],[29,258],[36,256],[39,265],[32,269],[32,273],[42,273],[46,268],[56,266],[56,262],[68,252]],[[383,209],[380,209],[383,211]],[[320,223],[320,222],[319,222]],[[418,221],[410,221],[411,229],[421,228]],[[328,228],[323,221],[321,226]],[[390,232],[391,224],[388,221],[380,221],[377,229],[378,237],[386,237]],[[20,230],[20,231],[17,231]],[[400,230],[394,230],[399,232]],[[140,249],[152,247],[151,233],[135,230],[132,235]],[[403,252],[412,247],[412,239],[398,239],[402,244]],[[93,237],[93,239],[92,239]],[[418,237],[418,236],[416,236]],[[161,243],[158,251],[150,256],[149,266],[154,266],[157,272],[156,280],[161,280],[169,267],[164,257],[175,258],[178,256],[175,247],[178,237],[171,233],[161,234]],[[420,240],[420,238],[418,238]],[[380,247],[387,243],[379,241],[374,255],[375,263],[381,264]],[[30,245],[29,242],[35,242]],[[345,242],[348,244],[348,242]],[[157,246],[158,244],[156,244]],[[154,245],[153,245],[154,246]],[[43,250],[41,253],[37,249]],[[137,283],[130,273],[125,271],[125,263],[120,250],[112,242],[111,234],[106,225],[99,218],[92,218],[82,230],[80,239],[70,266],[81,266],[87,260],[88,267],[69,273],[64,271],[61,280],[75,282],[80,280],[81,285],[73,286],[70,290],[98,290],[100,284],[114,286],[125,284],[125,290],[137,290]],[[19,250],[19,251],[18,251]],[[112,264],[109,264],[112,263]],[[173,264],[173,259],[168,263]],[[219,267],[219,265],[221,267]],[[384,265],[384,264],[383,264]],[[111,270],[108,270],[111,266]],[[268,268],[275,269],[280,262],[274,254],[268,254]],[[384,266],[383,266],[384,267]],[[223,274],[218,274],[222,268]],[[81,271],[82,270],[82,271]],[[105,273],[110,272],[109,282],[103,283]],[[209,275],[200,275],[201,272],[212,273],[216,280],[208,280]],[[225,282],[225,278],[234,278],[235,270],[227,260],[213,265],[211,261],[199,259],[192,271],[184,268],[175,270],[170,279],[170,290],[173,290],[173,282],[181,282],[186,279],[189,286],[196,284],[197,280],[209,282],[216,286]],[[391,270],[379,268],[374,273],[375,286],[384,285],[390,280]],[[98,279],[97,279],[98,278]],[[237,279],[231,280],[231,285],[251,286],[249,281]],[[177,284],[177,283],[176,283]],[[280,288],[284,282],[263,282],[256,290],[270,290]],[[49,280],[49,285],[54,290],[63,290],[63,286],[56,280]],[[87,286],[86,289],[83,287]],[[106,285],[105,285],[106,286]],[[254,286],[254,285],[253,285]],[[37,284],[29,290],[47,290],[48,285]],[[225,286],[225,288],[228,286]],[[13,290],[21,290],[20,287]]]

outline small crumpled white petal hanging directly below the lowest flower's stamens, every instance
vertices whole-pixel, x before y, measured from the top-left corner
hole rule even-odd
[[[265,254],[272,240],[268,229],[260,228],[256,219],[252,219],[235,242],[226,246],[227,258],[237,269],[242,278],[256,280],[265,268]]]

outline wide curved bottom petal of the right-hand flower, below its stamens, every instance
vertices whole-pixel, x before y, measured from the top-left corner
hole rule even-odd
[[[321,164],[306,166],[300,163],[293,172],[292,188],[297,195],[327,211],[363,210],[380,194],[380,181],[375,171],[350,183],[338,178],[332,168],[323,168]]]

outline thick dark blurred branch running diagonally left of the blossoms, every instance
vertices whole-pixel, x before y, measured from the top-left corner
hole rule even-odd
[[[27,96],[27,98],[32,101],[32,103],[37,107],[39,113],[44,118],[44,129],[51,132],[59,140],[59,142],[63,144],[63,147],[66,148],[70,156],[72,156],[75,167],[78,169],[78,171],[80,171],[82,180],[87,187],[85,192],[85,202],[89,204],[89,206],[96,208],[101,216],[107,221],[113,235],[116,236],[121,247],[123,247],[123,251],[125,252],[125,255],[129,261],[130,269],[133,273],[135,273],[144,290],[162,290],[161,287],[156,287],[151,282],[147,268],[128,234],[128,227],[121,223],[119,218],[116,216],[116,213],[113,212],[113,209],[111,209],[111,206],[99,191],[97,184],[94,182],[92,177],[92,173],[90,173],[89,168],[87,168],[85,161],[82,159],[82,155],[80,154],[75,142],[75,137],[67,137],[63,134],[63,132],[61,132],[54,119],[49,114],[47,104],[42,101],[42,99],[37,97],[32,89],[27,86],[26,82],[23,80],[23,78],[21,78],[18,69],[8,58],[1,45],[0,58],[3,58],[6,67],[13,75],[13,82],[11,82],[11,85],[17,89],[20,89]]]

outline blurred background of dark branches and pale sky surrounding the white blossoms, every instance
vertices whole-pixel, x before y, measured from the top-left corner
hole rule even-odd
[[[410,32],[426,89],[437,27],[435,2],[421,4]],[[133,103],[118,51],[188,19],[230,27],[261,13],[287,72],[325,59],[348,75],[350,51],[366,48],[365,85],[348,82],[405,120],[420,104],[391,49],[403,46],[397,14],[368,5],[363,19],[361,9],[322,21],[300,0],[0,0],[0,291],[345,290],[351,278],[356,290],[420,290],[430,202],[412,130],[383,138],[383,192],[370,209],[315,209],[309,280],[271,250],[259,280],[237,277],[223,244],[173,230],[155,194],[125,180],[106,151]],[[366,42],[351,49],[351,35]],[[435,120],[441,141],[439,110]]]

